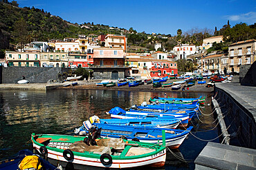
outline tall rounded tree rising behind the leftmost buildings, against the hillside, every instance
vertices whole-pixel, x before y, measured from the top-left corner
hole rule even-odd
[[[23,45],[28,42],[28,25],[24,19],[15,22],[13,35],[17,39],[17,43],[21,43],[21,49]]]

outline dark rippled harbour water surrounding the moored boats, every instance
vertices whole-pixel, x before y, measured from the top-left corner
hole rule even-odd
[[[196,98],[206,96],[203,114],[211,114],[209,93],[166,92],[166,96]],[[55,89],[38,91],[0,91],[0,160],[9,158],[21,149],[32,149],[30,135],[70,134],[80,127],[84,120],[105,114],[119,106],[140,105],[150,97],[162,96],[164,92],[127,92],[110,90]],[[211,114],[194,116],[190,125],[192,134],[185,139],[179,149],[167,151],[167,161],[163,169],[194,169],[194,160],[208,140],[217,138],[214,117]],[[218,139],[211,140],[219,142]],[[187,162],[180,159],[184,158]]]

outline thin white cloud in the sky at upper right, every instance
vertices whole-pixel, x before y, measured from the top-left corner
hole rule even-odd
[[[241,22],[255,23],[256,22],[256,12],[248,12],[246,14],[227,15],[227,16],[225,16],[225,18],[229,19],[230,21],[241,21]]]

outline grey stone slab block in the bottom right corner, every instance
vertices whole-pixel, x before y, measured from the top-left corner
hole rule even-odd
[[[256,150],[208,142],[194,161],[195,169],[256,169]]]

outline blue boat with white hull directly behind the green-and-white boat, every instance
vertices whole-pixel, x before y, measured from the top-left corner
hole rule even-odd
[[[107,125],[102,123],[93,124],[98,129],[101,128],[100,137],[102,138],[122,138],[138,142],[163,143],[162,130],[165,131],[165,143],[172,149],[179,148],[183,140],[190,133],[192,127],[186,130],[166,129],[153,127],[133,127],[122,125]],[[88,132],[86,129],[84,131]]]

